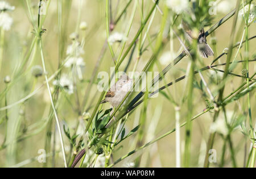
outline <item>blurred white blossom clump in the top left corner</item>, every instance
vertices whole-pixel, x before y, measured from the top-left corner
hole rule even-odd
[[[9,3],[5,1],[0,1],[0,28],[5,31],[9,31],[11,25],[13,24],[13,18],[7,14],[7,11],[13,11],[14,6],[10,6]]]

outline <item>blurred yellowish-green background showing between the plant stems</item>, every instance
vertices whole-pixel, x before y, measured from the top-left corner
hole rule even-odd
[[[30,47],[33,32],[32,32],[32,26],[30,21],[28,20],[28,11],[26,7],[25,1],[16,1],[16,0],[8,0],[7,2],[10,3],[10,5],[15,6],[15,10],[10,12],[10,16],[13,18],[13,26],[11,27],[10,31],[5,32],[5,44],[4,44],[4,51],[3,51],[3,61],[2,61],[2,69],[0,71],[0,91],[5,90],[6,84],[3,82],[3,78],[7,75],[11,76],[11,74],[14,71],[15,64],[19,63],[23,60],[24,55],[27,53],[27,48]],[[69,35],[72,34],[76,30],[77,26],[77,15],[79,12],[80,7],[80,1],[79,0],[73,0],[68,1],[66,3],[70,2],[70,10],[63,9],[63,26],[65,27],[65,32],[63,36],[63,45],[64,45],[64,51],[67,49],[67,46],[72,43],[72,40],[69,38]],[[113,1],[113,7],[117,5],[118,1]],[[139,1],[141,2],[141,1]],[[234,6],[236,5],[236,1],[233,1]],[[123,0],[119,2],[119,8],[118,12],[121,12],[121,10],[125,7],[127,1]],[[35,6],[34,8],[34,14],[37,11],[36,5],[38,5],[38,1],[32,0],[31,4]],[[153,2],[152,1],[144,1],[145,11],[148,9],[148,7],[151,7]],[[159,7],[163,8],[164,1],[160,1]],[[43,51],[44,56],[46,60],[46,69],[48,71],[48,76],[51,76],[56,69],[58,65],[58,54],[59,54],[59,44],[58,44],[58,13],[57,13],[57,1],[52,0],[51,4],[49,6],[49,11],[46,16],[46,21],[43,25],[43,28],[46,29],[46,32],[44,33],[42,39],[43,39]],[[127,28],[127,22],[129,21],[131,10],[133,5],[131,5],[128,10],[126,11],[125,15],[122,17],[121,21],[117,24],[117,26],[114,28],[114,32],[121,32],[125,33],[125,30]],[[234,7],[230,7],[230,10],[232,10]],[[106,28],[105,28],[105,1],[100,0],[93,0],[93,1],[83,1],[82,8],[81,8],[81,21],[84,21],[88,24],[88,29],[86,31],[79,31],[79,39],[81,39],[83,36],[85,36],[85,46],[84,46],[84,55],[82,57],[85,60],[85,69],[83,72],[83,81],[79,82],[77,84],[77,90],[79,91],[79,94],[81,94],[81,97],[85,93],[86,86],[88,85],[88,80],[92,76],[92,72],[94,69],[94,65],[96,64],[96,61],[98,59],[98,56],[101,53],[102,45],[104,45],[104,41],[106,39]],[[130,44],[131,40],[133,40],[134,35],[137,33],[138,28],[141,25],[141,16],[139,14],[139,10],[137,10],[137,13],[135,15],[133,26],[131,27],[131,32],[129,34],[129,37],[127,39],[127,44]],[[146,14],[146,13],[145,13]],[[221,13],[217,11],[217,14],[213,16],[213,24],[218,22],[223,16],[228,14]],[[158,11],[156,11],[156,15],[153,21],[153,24],[150,28],[150,34],[154,35],[158,33],[158,30],[160,28],[160,19],[162,18],[162,15]],[[213,35],[216,36],[216,47],[217,47],[217,55],[220,55],[224,48],[228,47],[229,45],[229,39],[233,23],[233,18],[230,18],[228,22],[224,23],[221,27],[217,28],[216,31],[214,31],[214,34],[211,34],[208,36],[208,42],[209,44]],[[180,24],[180,18],[177,19],[177,24]],[[237,23],[237,30],[240,27],[241,20]],[[209,27],[205,27],[205,31],[208,30]],[[249,37],[255,35],[256,26],[255,23],[251,25],[249,28]],[[241,39],[241,31],[238,31],[236,34],[236,41],[240,41]],[[148,40],[146,40],[148,43]],[[154,43],[153,43],[154,45]],[[177,54],[179,54],[181,51],[179,51],[181,45],[179,43],[179,40],[174,40],[174,48]],[[256,41],[250,40],[249,41],[249,57],[252,59],[253,55],[255,55],[255,48],[256,48]],[[127,48],[127,45],[126,45]],[[170,44],[167,43],[167,45],[162,50],[161,55],[164,54],[164,52],[169,51]],[[237,49],[237,48],[236,48]],[[115,50],[115,48],[114,48]],[[236,50],[235,50],[236,51]],[[243,54],[244,47],[242,48],[241,52]],[[133,70],[133,66],[135,64],[135,60],[137,58],[137,52],[135,52],[135,55],[133,56],[133,59],[131,61],[130,68],[128,71]],[[144,64],[147,63],[148,59],[150,59],[150,56],[152,55],[152,50],[148,48],[146,52],[143,53],[141,60],[138,63],[137,71],[140,72],[143,69]],[[159,59],[160,59],[159,56]],[[65,59],[65,54],[63,55],[63,59]],[[241,60],[241,57],[238,56],[238,59]],[[213,60],[213,57],[210,57],[209,59],[204,59],[204,64],[197,64],[200,67],[209,65]],[[222,57],[218,63],[225,63],[226,57]],[[125,65],[128,61],[128,58],[125,59],[125,63],[123,63],[120,66],[120,70],[123,70],[125,68]],[[188,64],[188,57],[185,57],[180,61],[179,64],[177,64],[170,72],[167,73],[165,80],[167,82],[171,82],[174,79],[181,77],[185,74],[185,70],[187,70],[187,64]],[[34,65],[41,65],[42,62],[40,59],[40,54],[36,54],[36,59],[34,62]],[[111,55],[109,52],[109,49],[107,48],[106,54],[104,58],[102,59],[102,63],[100,64],[99,72],[106,71],[110,73],[110,67],[114,66],[113,61],[111,59]],[[164,64],[162,64],[161,68],[163,69],[165,67]],[[223,69],[220,67],[219,69]],[[67,69],[64,69],[64,71]],[[157,66],[154,67],[155,71],[158,71]],[[241,74],[242,65],[238,64],[236,66],[236,69],[234,69],[233,73]],[[250,63],[250,74],[253,74],[256,70],[256,63]],[[209,70],[203,72],[203,76],[209,81],[210,76],[212,73],[209,73]],[[200,77],[196,75],[197,81],[200,81]],[[14,80],[14,79],[11,79]],[[34,78],[31,76],[31,70],[24,71],[22,77],[18,79],[18,81],[15,82],[13,86],[7,91],[6,97],[7,97],[7,103],[8,105],[19,101],[19,99],[22,99],[23,97],[26,97],[26,95],[31,93],[32,86],[35,85],[35,88],[38,88],[40,85],[43,84],[44,77],[39,77],[36,83],[34,82]],[[240,86],[242,80],[239,77],[233,77],[230,78],[227,81],[227,85],[224,91],[224,96],[228,95],[230,91],[233,89],[236,89],[238,86]],[[51,86],[52,81],[50,82]],[[164,85],[163,82],[160,82],[159,86]],[[184,95],[184,89],[186,86],[186,80],[177,82],[174,86],[169,87],[171,94],[173,94],[174,98],[177,101],[180,101],[181,97]],[[211,90],[214,91],[214,88],[216,86],[209,86]],[[100,92],[96,93],[96,97],[94,97],[94,93],[97,92],[97,85],[93,85],[92,93],[89,96],[89,102],[97,102],[97,99],[100,95]],[[67,99],[68,98],[68,99]],[[193,107],[193,115],[201,113],[206,108],[205,99],[202,97],[202,93],[200,90],[194,89],[194,100],[193,103],[195,104]],[[93,100],[92,100],[93,99]],[[95,100],[94,100],[95,99]],[[246,97],[243,97],[240,99],[240,103],[245,103]],[[68,97],[61,97],[58,101],[58,107],[57,107],[57,113],[59,115],[59,118],[61,120],[61,125],[66,124],[69,128],[75,128],[76,124],[79,120],[79,116],[75,113],[75,111],[72,109],[72,104],[75,103],[75,96],[74,94],[68,96]],[[229,114],[233,114],[236,112],[235,115],[243,114],[243,111],[245,111],[244,106],[239,107],[238,103],[230,103],[228,106],[226,106],[226,110],[229,111]],[[253,120],[255,121],[255,110],[256,110],[256,102],[255,102],[255,92],[251,93],[251,111],[253,113]],[[5,97],[1,98],[0,101],[0,107],[5,106]],[[235,107],[236,106],[236,107]],[[104,105],[104,109],[109,109],[109,105]],[[126,131],[130,131],[134,126],[137,126],[138,120],[141,116],[141,107],[143,105],[139,106],[138,109],[134,111],[133,114],[131,114],[127,120],[126,123]],[[186,120],[186,115],[189,109],[187,109],[187,105],[184,104],[183,106],[180,106],[181,108],[181,116],[180,120],[181,123]],[[23,103],[20,103],[19,105],[15,105],[11,107],[11,109],[8,110],[10,121],[13,121],[13,124],[9,123],[7,134],[6,134],[6,123],[2,123],[0,125],[0,144],[3,143],[3,140],[5,139],[5,135],[12,136],[10,140],[16,139],[17,136],[22,134],[23,130],[31,130],[36,131],[36,134],[32,134],[32,136],[27,135],[26,132],[24,132],[24,136],[27,136],[22,141],[18,141],[16,145],[10,145],[9,147],[3,148],[0,151],[0,166],[13,166],[15,164],[18,164],[24,160],[31,159],[35,156],[40,155],[38,153],[39,149],[45,148],[45,142],[46,142],[46,120],[47,115],[49,113],[49,110],[51,109],[51,103],[49,101],[48,93],[46,85],[43,86],[34,96],[29,98],[28,100],[24,101]],[[0,118],[5,118],[5,110],[0,111]],[[92,109],[86,111],[89,113],[92,113]],[[220,118],[223,116],[223,114],[220,115]],[[231,115],[232,116],[232,115]],[[206,150],[206,141],[208,140],[209,136],[209,127],[210,123],[212,123],[213,119],[213,113],[206,113],[196,120],[193,121],[192,126],[192,148],[191,148],[191,166],[203,166],[204,162],[204,155]],[[54,119],[53,119],[54,120]],[[9,122],[10,122],[9,121]],[[18,121],[18,122],[17,122]],[[152,125],[154,124],[154,125]],[[144,127],[144,134],[145,134],[145,143],[147,141],[150,141],[157,136],[164,134],[164,132],[167,132],[175,127],[175,109],[172,103],[168,101],[162,94],[159,94],[156,98],[151,98],[148,101],[147,105],[147,117],[146,117],[146,126]],[[52,131],[57,131],[53,127]],[[37,132],[38,130],[38,132]],[[54,132],[53,132],[54,134]],[[184,148],[184,127],[181,128],[181,152],[182,148]],[[245,151],[244,142],[245,137],[241,133],[241,130],[238,129],[235,132],[232,133],[232,141],[234,148],[236,149],[236,159],[238,166],[243,166],[243,155]],[[131,136],[129,139],[126,139],[121,145],[122,148],[118,149],[114,152],[113,160],[117,160],[119,157],[125,155],[126,153],[130,152],[135,148],[134,144],[134,138],[135,136]],[[65,144],[67,144],[66,152],[69,149],[68,140],[66,136],[64,136]],[[63,159],[61,157],[60,151],[60,141],[59,141],[59,135],[57,132],[55,132],[55,140],[52,143],[56,143],[56,156],[55,156],[55,166],[63,166]],[[249,140],[247,140],[247,149],[249,149]],[[222,145],[223,140],[220,135],[216,136],[215,143],[214,143],[214,149],[217,151],[217,163],[220,161],[221,151],[222,151]],[[148,166],[148,167],[174,167],[175,166],[175,132],[171,135],[166,136],[165,138],[157,141],[156,143],[150,145],[146,149],[143,149],[142,151],[139,151],[135,153],[134,155],[128,157],[127,159],[123,160],[121,163],[119,163],[116,166],[126,166],[127,163],[130,163],[134,161],[138,155],[142,154],[142,163],[141,166]],[[232,166],[231,160],[230,160],[230,152],[229,150],[226,151],[226,165],[225,166]],[[51,162],[48,161],[47,162]],[[24,165],[26,166],[43,166],[43,164],[38,163],[38,161],[31,161],[28,164]],[[211,166],[217,166],[216,164],[213,164]]]

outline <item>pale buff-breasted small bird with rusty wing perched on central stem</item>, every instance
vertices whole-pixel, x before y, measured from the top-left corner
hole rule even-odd
[[[109,102],[110,105],[112,105],[113,107],[117,107],[132,86],[133,79],[129,78],[126,74],[123,74],[118,79],[118,81],[115,82],[115,84],[109,89],[109,91],[105,95],[105,99],[102,100],[100,103]],[[125,102],[123,102],[123,104]]]

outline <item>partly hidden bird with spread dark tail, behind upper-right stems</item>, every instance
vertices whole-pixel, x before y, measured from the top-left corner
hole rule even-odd
[[[182,20],[181,26],[185,32],[185,37],[188,39],[189,43],[192,43],[192,31],[188,24]],[[209,56],[213,56],[212,48],[207,44],[204,28],[201,28],[199,37],[197,38],[197,48],[201,57],[208,58]]]

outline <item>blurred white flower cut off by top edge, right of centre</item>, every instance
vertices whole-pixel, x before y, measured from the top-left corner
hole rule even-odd
[[[188,0],[166,0],[166,5],[176,14],[181,14],[185,9],[188,9]]]

